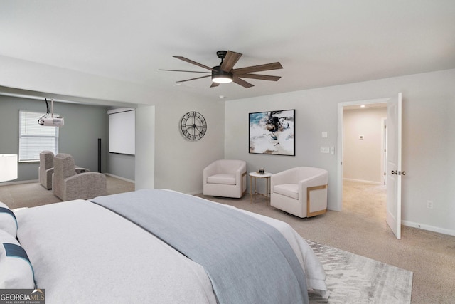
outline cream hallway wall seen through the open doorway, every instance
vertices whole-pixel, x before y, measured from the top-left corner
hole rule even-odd
[[[382,182],[382,119],[386,117],[387,108],[344,110],[343,178]]]

